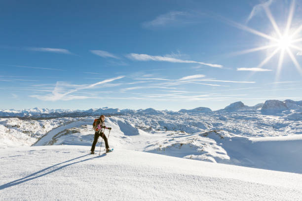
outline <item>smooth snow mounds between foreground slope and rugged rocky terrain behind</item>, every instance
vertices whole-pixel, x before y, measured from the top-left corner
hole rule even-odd
[[[48,132],[35,143],[40,145],[91,146],[93,119],[78,119]],[[126,118],[108,117],[112,127],[109,145],[113,148],[138,150],[213,163],[302,173],[302,135],[251,137],[225,130],[189,134],[182,131],[143,131]],[[137,123],[139,124],[139,123]],[[105,134],[108,136],[109,131]],[[252,135],[253,136],[253,135]],[[97,147],[100,146],[101,138]],[[104,147],[104,143],[103,143]]]

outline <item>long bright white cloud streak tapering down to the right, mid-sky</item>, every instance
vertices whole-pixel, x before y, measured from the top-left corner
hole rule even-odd
[[[131,53],[128,54],[127,57],[132,60],[136,61],[158,61],[158,62],[171,62],[171,63],[188,63],[188,64],[201,64],[209,67],[219,67],[222,68],[222,65],[219,64],[208,64],[203,62],[196,62],[196,61],[190,61],[190,60],[181,60],[171,57],[162,57],[162,56],[151,56],[147,54],[136,54]]]

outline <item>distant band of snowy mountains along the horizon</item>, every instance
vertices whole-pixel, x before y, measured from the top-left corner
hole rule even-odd
[[[88,110],[64,110],[64,109],[24,109],[24,110],[0,110],[0,117],[23,117],[23,118],[59,118],[59,117],[85,117],[85,116],[98,116],[101,114],[105,115],[125,115],[125,114],[148,114],[148,115],[161,115],[161,114],[179,114],[179,113],[221,113],[221,112],[236,112],[236,111],[251,111],[261,110],[263,114],[273,115],[290,109],[301,109],[302,100],[266,100],[265,103],[259,103],[255,106],[247,106],[243,102],[238,101],[231,103],[224,109],[212,111],[207,107],[197,107],[194,109],[181,109],[178,112],[168,110],[155,110],[153,108],[148,109],[118,109],[118,108],[91,108]]]

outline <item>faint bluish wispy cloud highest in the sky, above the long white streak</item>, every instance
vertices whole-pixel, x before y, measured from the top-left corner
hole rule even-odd
[[[164,27],[167,25],[173,25],[176,22],[184,23],[184,16],[188,16],[189,13],[183,11],[170,11],[166,14],[157,16],[154,20],[142,23],[144,28],[155,28],[155,27]]]

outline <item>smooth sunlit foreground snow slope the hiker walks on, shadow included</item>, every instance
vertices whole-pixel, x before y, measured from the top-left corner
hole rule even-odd
[[[0,200],[299,201],[302,175],[85,146],[0,150]]]

